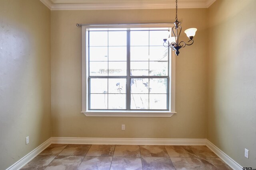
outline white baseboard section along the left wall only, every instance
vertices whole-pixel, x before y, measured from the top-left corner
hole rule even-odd
[[[12,166],[7,168],[6,170],[19,170],[24,165],[26,165],[30,160],[32,160],[34,157],[36,157],[38,154],[40,154],[44,149],[46,149],[49,145],[51,145],[52,140],[49,138],[47,141],[42,143],[40,146],[38,146],[36,149],[32,150],[28,154],[26,154],[23,158],[15,162]]]

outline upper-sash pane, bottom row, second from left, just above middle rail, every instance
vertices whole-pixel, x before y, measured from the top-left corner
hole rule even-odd
[[[112,61],[108,62],[108,75],[109,76],[126,76],[126,61]]]

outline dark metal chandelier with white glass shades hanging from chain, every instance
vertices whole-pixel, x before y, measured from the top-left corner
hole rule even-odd
[[[171,37],[171,35],[168,35],[167,39],[164,39],[164,47],[170,47],[172,50],[175,50],[175,54],[178,56],[180,51],[179,49],[182,47],[185,47],[186,45],[192,45],[194,43],[194,36],[196,34],[197,29],[196,28],[189,28],[186,29],[184,32],[189,38],[189,41],[185,43],[184,41],[180,41],[179,43],[179,37],[180,37],[180,32],[181,32],[181,26],[180,22],[178,21],[178,16],[177,16],[177,2],[176,0],[176,21],[174,22],[174,27],[172,27],[172,33],[174,37]]]

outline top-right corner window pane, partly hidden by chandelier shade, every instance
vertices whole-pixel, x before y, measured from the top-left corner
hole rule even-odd
[[[170,33],[170,32],[169,32]],[[149,31],[149,45],[162,46],[168,35],[168,31]]]

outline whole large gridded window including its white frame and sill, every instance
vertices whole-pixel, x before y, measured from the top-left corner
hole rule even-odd
[[[87,116],[155,117],[175,113],[174,57],[162,40],[169,30],[83,26],[82,112]]]

